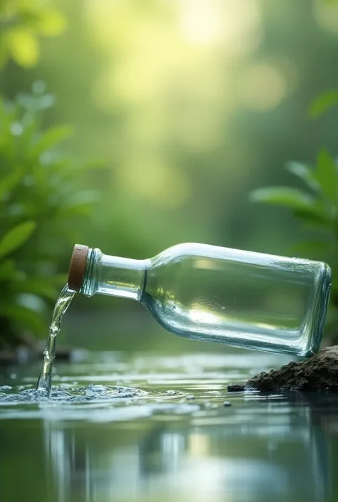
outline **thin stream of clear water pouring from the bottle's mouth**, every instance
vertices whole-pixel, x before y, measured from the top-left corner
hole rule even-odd
[[[71,300],[74,295],[74,291],[68,289],[68,284],[66,284],[58,296],[58,300],[56,301],[53,310],[47,345],[43,352],[44,359],[42,370],[36,385],[36,392],[38,392],[41,397],[48,397],[51,392],[51,370],[53,367],[53,360],[55,358],[56,335],[58,335],[58,332],[60,331],[61,320],[63,315],[66,313],[67,308],[71,304]]]

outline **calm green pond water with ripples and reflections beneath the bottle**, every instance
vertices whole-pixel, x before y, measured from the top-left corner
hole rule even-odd
[[[2,370],[0,500],[337,501],[338,397],[227,394],[283,356],[74,353]]]

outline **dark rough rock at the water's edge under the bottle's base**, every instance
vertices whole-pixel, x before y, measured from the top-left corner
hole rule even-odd
[[[229,385],[227,389],[229,392],[239,392],[237,387],[240,386]],[[262,372],[247,380],[242,390],[338,391],[338,345],[324,347],[310,359],[292,361],[279,370]]]

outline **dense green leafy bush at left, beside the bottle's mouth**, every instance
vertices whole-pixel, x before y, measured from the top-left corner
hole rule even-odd
[[[42,83],[31,95],[0,102],[0,347],[6,330],[46,334],[46,307],[66,282],[58,261],[96,197],[78,189],[88,166],[57,152],[71,127],[41,128],[53,103]]]

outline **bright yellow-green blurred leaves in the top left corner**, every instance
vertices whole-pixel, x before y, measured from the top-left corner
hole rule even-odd
[[[48,1],[0,0],[0,68],[11,58],[24,68],[39,61],[39,36],[57,36],[66,26]]]

